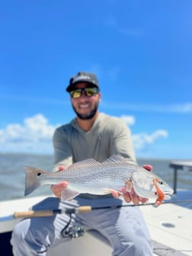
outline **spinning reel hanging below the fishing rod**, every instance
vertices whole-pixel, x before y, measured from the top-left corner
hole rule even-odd
[[[69,227],[69,224],[72,221],[72,216],[70,214],[69,222],[66,224],[66,226],[62,229],[61,235],[63,238],[78,238],[80,236],[84,235],[84,227],[81,224],[78,225],[72,225]]]

